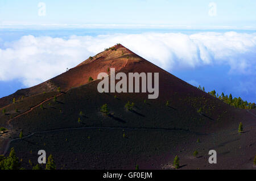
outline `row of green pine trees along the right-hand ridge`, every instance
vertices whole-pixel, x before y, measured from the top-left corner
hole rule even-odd
[[[205,88],[199,86],[198,89],[201,91],[205,91]],[[240,97],[239,98],[233,98],[232,94],[224,95],[224,92],[222,92],[221,95],[218,95],[215,90],[208,92],[208,94],[214,96],[214,98],[218,98],[222,100],[224,103],[229,104],[233,107],[240,108],[240,109],[255,109],[256,105],[255,103],[248,103],[247,101],[242,100]]]

